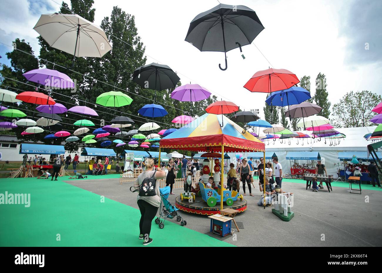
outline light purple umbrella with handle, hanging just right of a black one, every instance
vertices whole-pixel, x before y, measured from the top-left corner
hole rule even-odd
[[[192,102],[205,100],[210,97],[211,93],[199,84],[185,84],[178,86],[171,92],[171,98],[180,102],[190,102],[192,114]]]

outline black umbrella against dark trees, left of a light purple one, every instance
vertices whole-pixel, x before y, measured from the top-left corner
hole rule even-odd
[[[155,96],[157,94],[156,90],[175,88],[179,80],[178,75],[170,67],[159,63],[141,66],[135,69],[133,73],[133,81],[142,88],[155,90]]]

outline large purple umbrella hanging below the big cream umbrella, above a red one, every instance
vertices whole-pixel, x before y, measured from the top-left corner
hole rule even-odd
[[[72,79],[57,70],[48,68],[33,69],[23,74],[23,76],[32,82],[37,82],[49,87],[55,88],[74,88],[74,82]]]

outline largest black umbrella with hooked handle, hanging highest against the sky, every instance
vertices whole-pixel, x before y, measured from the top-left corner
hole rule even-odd
[[[249,45],[264,29],[254,10],[241,5],[219,4],[197,15],[190,23],[186,42],[200,51],[224,52],[227,69],[227,52]]]

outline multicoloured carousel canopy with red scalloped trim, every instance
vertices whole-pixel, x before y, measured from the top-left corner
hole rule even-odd
[[[223,119],[223,120],[222,120]],[[224,124],[220,127],[220,124]],[[160,147],[191,151],[264,151],[265,145],[226,116],[206,113],[160,140]]]

